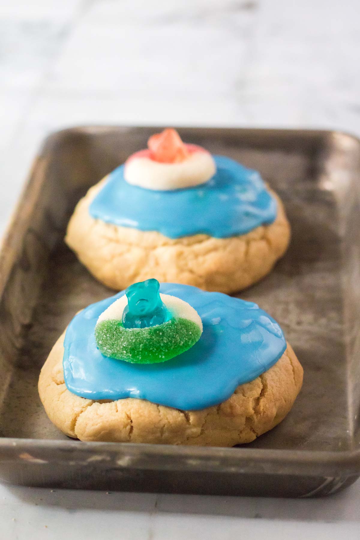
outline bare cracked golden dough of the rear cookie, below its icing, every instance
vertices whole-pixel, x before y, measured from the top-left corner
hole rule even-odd
[[[93,219],[89,206],[105,181],[91,187],[77,204],[65,242],[99,281],[113,289],[156,278],[205,291],[241,291],[268,274],[289,244],[290,226],[273,192],[278,210],[271,225],[230,238],[196,234],[171,239],[156,231]]]

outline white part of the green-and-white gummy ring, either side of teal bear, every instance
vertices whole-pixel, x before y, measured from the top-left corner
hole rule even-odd
[[[170,294],[160,294],[161,300],[165,303],[165,306],[169,312],[176,318],[187,319],[192,321],[195,325],[198,325],[202,332],[202,321],[198,312],[185,300],[181,300],[177,296],[172,296]],[[103,313],[99,315],[97,320],[97,325],[101,321],[108,321],[110,319],[115,319],[121,321],[123,319],[123,311],[127,306],[126,294],[121,296],[118,300],[113,302]]]

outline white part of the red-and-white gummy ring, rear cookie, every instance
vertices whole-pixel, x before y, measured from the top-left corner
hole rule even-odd
[[[124,178],[128,184],[147,190],[170,191],[204,184],[215,172],[212,155],[199,151],[180,163],[160,163],[147,157],[134,157],[125,163]]]

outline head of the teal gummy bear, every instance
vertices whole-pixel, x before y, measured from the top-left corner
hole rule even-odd
[[[159,294],[159,281],[147,279],[127,287],[126,291],[129,313],[133,315],[150,315],[162,305]]]

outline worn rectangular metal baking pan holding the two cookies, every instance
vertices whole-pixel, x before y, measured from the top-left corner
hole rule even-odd
[[[46,139],[0,256],[0,479],[44,487],[326,495],[360,475],[360,143],[327,131],[181,128],[186,141],[260,170],[282,197],[285,257],[240,296],[279,321],[304,367],[280,426],[239,448],[82,443],[40,403],[40,367],[72,316],[113,294],[64,245],[87,188],[154,127],[79,127]]]

